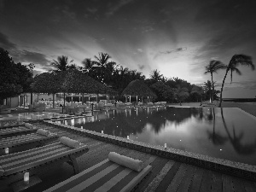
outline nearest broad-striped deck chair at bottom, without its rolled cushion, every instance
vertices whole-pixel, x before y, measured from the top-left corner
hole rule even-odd
[[[44,192],[131,191],[151,170],[152,166],[146,166],[136,172],[107,159]]]

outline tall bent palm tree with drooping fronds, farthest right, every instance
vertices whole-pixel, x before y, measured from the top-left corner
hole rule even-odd
[[[252,60],[251,56],[242,55],[242,54],[232,56],[232,58],[230,60],[230,63],[226,68],[226,73],[224,75],[224,79],[223,79],[223,82],[222,82],[222,86],[221,86],[221,90],[220,90],[220,101],[219,101],[219,106],[218,106],[219,108],[221,107],[222,92],[223,92],[224,82],[225,82],[225,79],[227,77],[228,72],[231,70],[231,74],[230,74],[231,83],[232,83],[233,72],[236,72],[237,74],[241,75],[240,70],[237,68],[238,65],[251,67],[252,70],[254,70],[254,68],[255,68],[254,65],[253,65],[253,60]]]

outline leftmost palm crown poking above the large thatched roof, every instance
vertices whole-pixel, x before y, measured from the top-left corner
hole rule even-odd
[[[67,69],[69,68],[75,68],[75,65],[73,64],[73,60],[68,61],[68,57],[65,55],[58,56],[57,61],[55,60],[52,61],[51,65],[53,65],[56,68],[56,70],[53,70],[56,73],[67,71]]]

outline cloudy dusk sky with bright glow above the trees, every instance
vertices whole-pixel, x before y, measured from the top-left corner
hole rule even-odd
[[[99,52],[142,72],[191,84],[210,80],[211,60],[228,64],[235,54],[256,61],[254,0],[0,0],[0,47],[35,73],[67,55],[77,66]],[[239,67],[224,98],[254,98],[256,70]],[[213,74],[217,90],[224,71]]]

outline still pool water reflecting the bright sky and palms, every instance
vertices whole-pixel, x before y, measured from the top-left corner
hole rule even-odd
[[[126,108],[59,122],[256,166],[256,118],[239,108]]]

